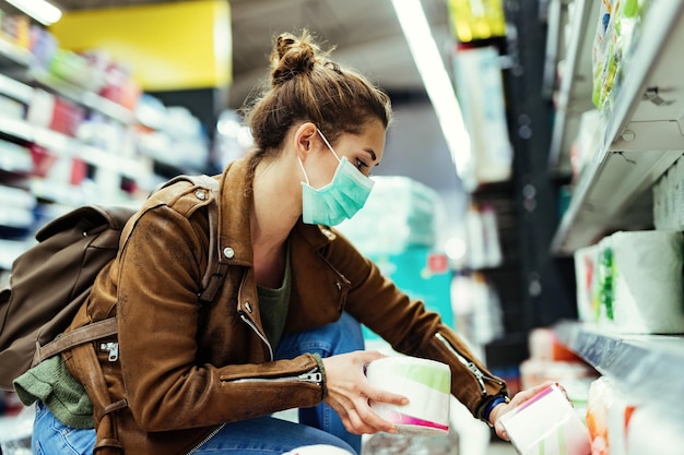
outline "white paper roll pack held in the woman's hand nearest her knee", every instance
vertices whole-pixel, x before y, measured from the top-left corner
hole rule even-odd
[[[378,387],[403,395],[403,406],[373,402],[370,407],[397,424],[402,434],[440,435],[449,431],[449,367],[414,357],[385,357],[368,363],[368,380]]]

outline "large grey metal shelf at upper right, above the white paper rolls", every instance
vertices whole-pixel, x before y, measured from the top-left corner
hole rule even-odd
[[[684,151],[684,2],[658,1],[623,71],[624,81],[594,159],[574,191],[552,242],[568,255],[616,229],[644,226],[652,214],[635,206]]]

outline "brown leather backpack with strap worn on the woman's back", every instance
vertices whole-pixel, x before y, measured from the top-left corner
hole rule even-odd
[[[179,176],[161,188],[184,180],[219,190],[208,176]],[[219,204],[213,201],[208,206],[211,250],[219,229]],[[75,208],[38,230],[38,243],[16,258],[0,286],[0,390],[12,391],[14,379],[48,357],[116,334],[116,319],[110,318],[55,339],[86,300],[99,271],[116,258],[121,230],[137,212],[122,206]],[[200,300],[211,301],[224,277],[210,251]]]

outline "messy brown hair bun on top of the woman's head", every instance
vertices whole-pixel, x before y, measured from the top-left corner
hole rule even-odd
[[[271,52],[271,85],[276,86],[311,72],[321,59],[319,52],[306,31],[298,38],[290,33],[280,35]]]

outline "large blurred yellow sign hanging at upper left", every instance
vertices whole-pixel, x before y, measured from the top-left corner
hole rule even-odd
[[[109,52],[144,91],[220,87],[232,79],[227,0],[73,11],[49,29],[62,49]]]

